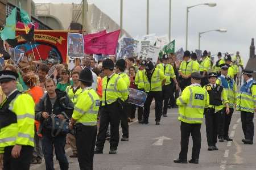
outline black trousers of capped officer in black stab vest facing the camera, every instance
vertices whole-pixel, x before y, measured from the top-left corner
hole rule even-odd
[[[208,112],[205,112],[205,125],[208,146],[216,146],[218,135],[218,122],[220,120],[221,112],[222,109],[221,111],[218,111],[216,113],[214,113],[214,109],[208,109]]]

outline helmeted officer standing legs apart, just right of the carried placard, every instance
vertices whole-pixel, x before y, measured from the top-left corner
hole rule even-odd
[[[150,105],[153,98],[155,99],[155,124],[160,125],[161,119],[161,101],[162,101],[162,86],[166,82],[164,73],[160,69],[155,69],[154,64],[149,61],[144,74],[144,88],[147,92],[147,99],[144,103],[143,124],[148,124],[150,114]]]

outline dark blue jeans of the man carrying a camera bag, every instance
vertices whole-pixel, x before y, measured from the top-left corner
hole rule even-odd
[[[53,146],[56,159],[59,161],[60,169],[68,169],[68,159],[65,155],[66,135],[57,135],[52,137],[49,134],[43,134],[42,146],[44,159],[46,160],[46,170],[54,170],[53,167]]]

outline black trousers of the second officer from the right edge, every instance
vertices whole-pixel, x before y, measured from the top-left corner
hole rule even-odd
[[[218,136],[228,137],[229,125],[234,112],[234,108],[229,108],[229,114],[226,113],[226,108],[223,108],[223,112],[220,113],[220,120],[218,124]]]

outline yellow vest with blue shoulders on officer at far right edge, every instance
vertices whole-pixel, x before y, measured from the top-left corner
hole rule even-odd
[[[240,92],[237,94],[237,111],[254,113],[256,108],[256,82],[254,79],[243,83]]]

